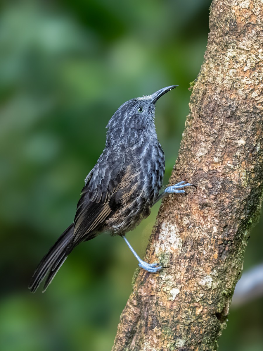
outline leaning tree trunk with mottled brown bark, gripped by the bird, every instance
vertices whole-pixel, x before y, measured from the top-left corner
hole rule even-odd
[[[216,350],[263,190],[262,0],[214,0],[170,184],[113,351]],[[176,153],[176,150],[175,150]]]

